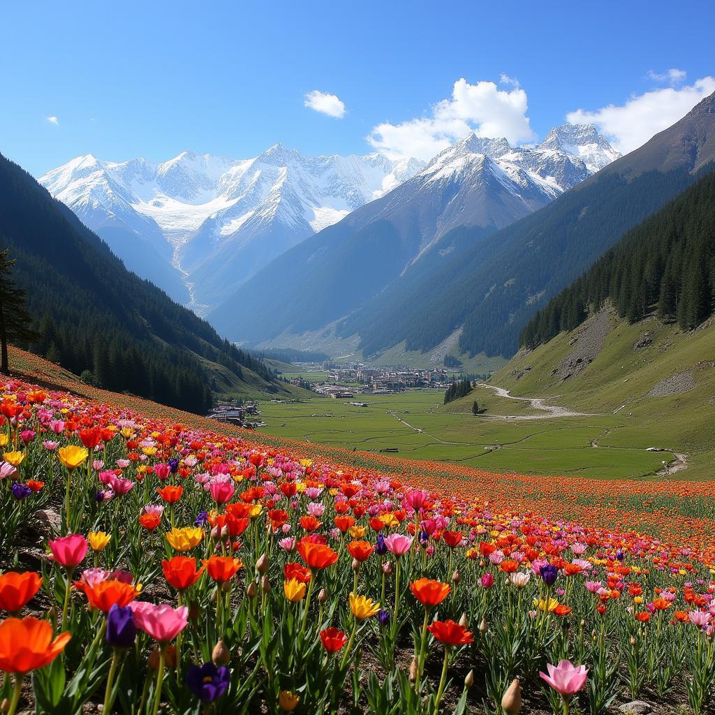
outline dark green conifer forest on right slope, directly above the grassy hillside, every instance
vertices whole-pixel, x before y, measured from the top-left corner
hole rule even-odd
[[[590,270],[538,311],[520,343],[536,347],[573,330],[609,299],[628,322],[656,312],[682,330],[715,305],[715,172],[626,234]]]

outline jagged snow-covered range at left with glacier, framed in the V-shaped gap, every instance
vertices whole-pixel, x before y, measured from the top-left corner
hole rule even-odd
[[[106,162],[87,154],[39,181],[127,267],[201,311],[424,165],[382,154],[305,157],[276,144],[239,160],[187,151],[161,163]]]

